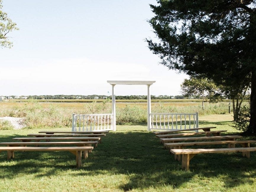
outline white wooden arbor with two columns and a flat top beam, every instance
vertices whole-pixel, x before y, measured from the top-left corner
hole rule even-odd
[[[115,110],[115,85],[147,85],[147,115],[148,115],[148,128],[150,131],[151,126],[151,97],[150,97],[150,85],[155,83],[155,81],[107,81],[112,85],[112,113],[113,113],[113,130],[116,130],[116,110]]]

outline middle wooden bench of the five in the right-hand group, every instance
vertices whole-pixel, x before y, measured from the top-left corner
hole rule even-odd
[[[243,138],[239,135],[210,136],[210,137],[179,137],[179,138],[162,138],[161,143],[177,143],[178,141],[196,141],[196,140],[220,140],[235,141],[237,138]]]

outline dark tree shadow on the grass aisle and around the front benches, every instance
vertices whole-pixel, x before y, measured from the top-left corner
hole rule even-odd
[[[0,141],[8,142],[13,137],[4,137]],[[253,152],[250,159],[242,157],[240,153],[199,154],[190,161],[191,171],[183,171],[181,162],[174,161],[173,155],[163,149],[154,133],[144,130],[110,132],[102,138],[102,143],[89,154],[88,159],[83,160],[83,166],[70,173],[70,177],[126,175],[126,182],[119,185],[123,191],[152,186],[179,188],[198,177],[221,177],[225,188],[234,188],[253,182],[252,178],[256,177],[255,158]],[[0,159],[6,159],[6,154],[0,153]],[[16,152],[12,161],[1,166],[0,178],[15,178],[19,174],[34,172],[38,173],[36,177],[43,177],[75,169],[75,157],[67,152]],[[45,170],[45,167],[48,169]]]

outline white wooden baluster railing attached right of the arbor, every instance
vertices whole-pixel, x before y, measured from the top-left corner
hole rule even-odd
[[[198,128],[198,113],[151,113],[150,130]]]

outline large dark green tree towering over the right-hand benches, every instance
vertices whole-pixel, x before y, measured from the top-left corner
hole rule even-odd
[[[256,134],[255,0],[158,0],[149,49],[169,69],[235,90],[251,86],[247,133]]]

